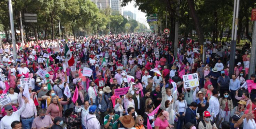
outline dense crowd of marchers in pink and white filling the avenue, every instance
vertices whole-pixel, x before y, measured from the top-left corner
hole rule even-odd
[[[16,60],[4,47],[0,129],[256,129],[250,43],[231,78],[221,41],[180,39],[176,57],[150,33],[17,43]]]

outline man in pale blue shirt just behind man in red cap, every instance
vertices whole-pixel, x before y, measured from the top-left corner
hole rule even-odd
[[[211,112],[214,113],[213,118],[216,118],[216,116],[219,114],[219,100],[218,100],[218,91],[214,89],[212,91],[212,96],[210,98],[210,109]]]

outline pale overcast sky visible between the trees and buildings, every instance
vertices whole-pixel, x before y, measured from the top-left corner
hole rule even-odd
[[[138,10],[138,7],[134,7],[135,2],[129,2],[128,5],[123,7],[123,11],[131,11],[132,13],[136,14],[136,20],[139,21],[140,23],[144,24],[149,28],[149,25],[146,21],[146,13],[141,12]]]

